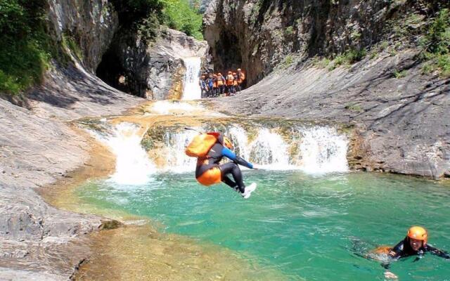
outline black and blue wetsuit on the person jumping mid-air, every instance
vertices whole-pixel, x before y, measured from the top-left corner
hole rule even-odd
[[[218,167],[221,171],[221,181],[229,185],[229,187],[239,190],[241,193],[245,191],[242,173],[238,164],[246,166],[250,169],[253,165],[245,161],[243,158],[235,155],[231,150],[224,147],[223,136],[219,136],[217,143],[215,143],[207,154],[206,159],[199,158],[197,161],[197,168],[195,169],[195,178],[200,177],[205,171]],[[223,157],[231,159],[233,162],[228,162],[219,165]],[[229,178],[228,174],[233,176],[233,180]]]

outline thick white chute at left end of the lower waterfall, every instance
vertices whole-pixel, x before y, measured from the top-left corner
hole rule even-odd
[[[116,125],[108,136],[98,135],[116,156],[115,174],[110,181],[121,185],[143,185],[151,181],[155,173],[155,165],[141,146],[139,126],[130,123]]]

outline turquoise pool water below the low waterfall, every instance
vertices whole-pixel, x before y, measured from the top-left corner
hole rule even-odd
[[[384,268],[354,254],[394,245],[411,225],[450,250],[450,188],[406,176],[368,173],[311,176],[245,171],[258,183],[249,200],[225,185],[204,188],[193,174],[159,174],[142,186],[108,181],[79,189],[100,207],[148,216],[161,231],[237,251],[289,280],[384,280]],[[450,261],[430,254],[392,263],[399,280],[450,280]]]

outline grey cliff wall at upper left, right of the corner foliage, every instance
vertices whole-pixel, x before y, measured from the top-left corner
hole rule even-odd
[[[57,41],[72,40],[82,53],[79,60],[94,73],[119,24],[113,5],[108,0],[48,0],[48,4],[53,36]]]

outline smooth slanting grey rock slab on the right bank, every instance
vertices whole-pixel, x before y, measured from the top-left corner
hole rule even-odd
[[[236,115],[349,124],[353,169],[442,178],[450,174],[450,79],[421,74],[414,55],[278,70],[216,105]],[[406,76],[396,78],[397,70]]]

